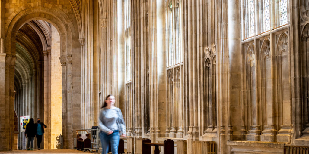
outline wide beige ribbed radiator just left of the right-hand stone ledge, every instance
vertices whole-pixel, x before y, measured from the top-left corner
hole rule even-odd
[[[214,141],[192,141],[192,154],[217,154]]]

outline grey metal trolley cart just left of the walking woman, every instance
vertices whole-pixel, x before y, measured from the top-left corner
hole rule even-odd
[[[92,128],[88,128],[85,130],[87,130],[90,134],[91,148],[84,148],[84,150],[85,151],[89,150],[90,152],[92,151],[98,152],[98,150],[102,150],[102,144],[99,135],[99,127],[94,126]]]

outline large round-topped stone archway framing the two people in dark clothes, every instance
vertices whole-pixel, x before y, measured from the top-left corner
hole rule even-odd
[[[2,51],[1,54],[1,62],[3,62],[5,58],[5,63],[1,63],[1,71],[4,71],[5,80],[2,81],[5,85],[5,90],[2,91],[0,98],[5,98],[5,101],[2,100],[0,104],[9,104],[4,106],[5,115],[8,118],[1,118],[0,120],[3,122],[2,126],[5,126],[5,133],[1,133],[0,139],[4,139],[4,145],[0,146],[1,149],[13,149],[13,137],[8,136],[8,134],[12,133],[12,128],[14,128],[13,124],[13,112],[14,112],[14,67],[15,67],[15,37],[19,28],[25,24],[26,22],[32,20],[43,20],[51,23],[54,27],[56,27],[57,31],[60,35],[60,49],[61,49],[61,66],[62,66],[62,135],[64,137],[64,148],[73,148],[73,138],[72,132],[73,129],[78,128],[73,127],[73,75],[72,75],[72,50],[77,51],[77,61],[76,64],[80,64],[78,61],[78,57],[80,54],[80,46],[77,41],[77,45],[75,45],[74,40],[78,40],[78,34],[76,33],[77,27],[74,27],[68,15],[59,9],[55,5],[45,5],[43,6],[41,3],[28,3],[24,6],[19,7],[6,19],[5,25],[5,39],[4,43],[1,44]],[[74,47],[72,47],[74,46]],[[5,47],[5,49],[4,49]],[[79,53],[79,54],[78,54]],[[4,58],[3,58],[4,57]],[[10,89],[8,91],[8,89]],[[78,89],[77,89],[78,94]],[[80,95],[80,94],[79,94]],[[77,113],[79,115],[80,113]],[[50,113],[48,116],[45,116],[46,124],[50,124]],[[0,122],[0,123],[2,123]],[[5,124],[5,125],[4,125]],[[46,129],[46,133],[50,133],[50,128]],[[2,143],[2,142],[1,142]],[[49,142],[45,143],[47,145],[47,149],[50,148],[50,139]],[[48,147],[49,146],[49,147]]]

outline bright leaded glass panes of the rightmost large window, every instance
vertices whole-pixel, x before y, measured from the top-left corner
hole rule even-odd
[[[287,0],[244,0],[243,39],[260,35],[288,23]]]

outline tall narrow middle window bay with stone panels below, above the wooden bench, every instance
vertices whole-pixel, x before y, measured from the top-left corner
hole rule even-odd
[[[167,7],[167,128],[166,137],[182,137],[183,54],[180,46],[180,2],[169,0]]]

